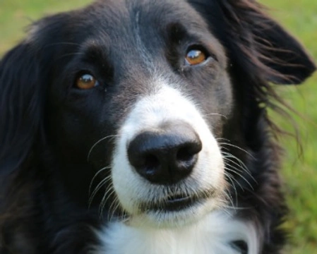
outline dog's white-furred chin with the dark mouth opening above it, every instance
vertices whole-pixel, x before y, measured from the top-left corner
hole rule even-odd
[[[143,202],[137,214],[131,214],[130,226],[158,229],[175,229],[195,224],[221,206],[217,198],[181,197],[161,203]]]

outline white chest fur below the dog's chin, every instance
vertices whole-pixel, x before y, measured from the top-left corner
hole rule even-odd
[[[248,244],[258,254],[255,226],[228,214],[213,212],[200,222],[179,229],[136,228],[115,222],[99,231],[102,247],[95,254],[239,254],[231,241]]]

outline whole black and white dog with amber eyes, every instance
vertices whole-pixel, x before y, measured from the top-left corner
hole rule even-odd
[[[0,253],[281,253],[267,109],[316,67],[253,0],[103,0],[0,63]]]

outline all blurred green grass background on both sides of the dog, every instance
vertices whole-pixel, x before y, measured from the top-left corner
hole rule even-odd
[[[23,36],[23,29],[46,14],[84,6],[89,0],[0,0],[0,56]],[[261,0],[270,15],[280,21],[317,60],[317,0]],[[303,116],[297,121],[304,155],[299,158],[293,138],[282,138],[287,148],[283,166],[285,192],[291,209],[285,226],[291,243],[285,253],[317,253],[317,74],[304,85],[277,86],[286,101]],[[1,109],[0,109],[1,110]],[[275,121],[294,131],[287,119],[271,112]],[[225,253],[224,253],[225,254]]]

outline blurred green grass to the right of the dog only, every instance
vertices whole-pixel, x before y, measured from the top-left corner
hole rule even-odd
[[[292,32],[317,62],[317,1],[261,0],[270,14]],[[292,242],[285,253],[317,253],[317,74],[300,86],[280,86],[280,94],[301,116],[293,114],[300,130],[303,156],[293,138],[283,138],[285,192],[290,207],[287,228]],[[287,119],[273,114],[275,121],[294,131]]]

